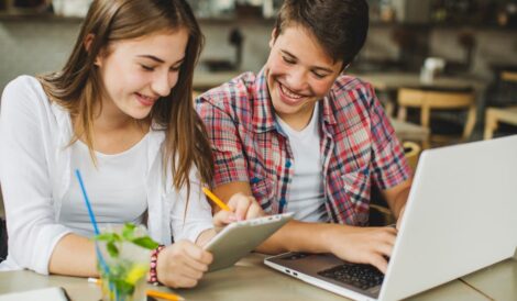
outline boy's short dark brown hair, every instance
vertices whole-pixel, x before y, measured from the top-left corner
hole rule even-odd
[[[285,29],[301,25],[315,35],[328,55],[350,64],[366,41],[365,0],[285,0],[275,24],[275,38]]]

